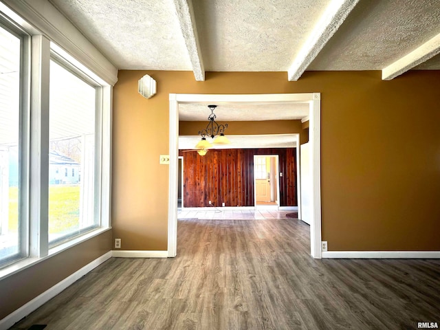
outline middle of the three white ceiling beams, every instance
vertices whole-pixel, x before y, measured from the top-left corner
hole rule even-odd
[[[335,34],[340,25],[347,19],[349,13],[359,0],[333,0],[320,17],[309,39],[301,48],[287,73],[289,81],[296,81],[305,72],[310,63]]]

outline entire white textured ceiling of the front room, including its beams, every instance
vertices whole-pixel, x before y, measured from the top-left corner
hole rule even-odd
[[[289,80],[304,70],[391,66],[391,79],[412,68],[440,69],[439,0],[50,2],[118,69],[193,70],[197,80],[205,71],[287,72],[292,65],[300,71]],[[416,60],[397,62],[412,51]]]

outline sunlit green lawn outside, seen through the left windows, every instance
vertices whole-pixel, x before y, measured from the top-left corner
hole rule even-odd
[[[9,188],[9,230],[17,232],[18,188]],[[49,233],[76,230],[80,216],[80,186],[49,186]]]

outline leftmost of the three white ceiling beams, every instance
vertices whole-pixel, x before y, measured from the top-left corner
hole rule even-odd
[[[199,36],[197,35],[191,0],[174,0],[174,5],[177,17],[179,18],[181,34],[184,36],[186,48],[190,56],[195,80],[204,81],[205,68],[203,66],[203,59],[201,58]]]

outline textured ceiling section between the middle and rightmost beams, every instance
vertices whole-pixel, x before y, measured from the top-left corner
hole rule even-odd
[[[309,69],[381,70],[439,33],[438,0],[360,1]]]

